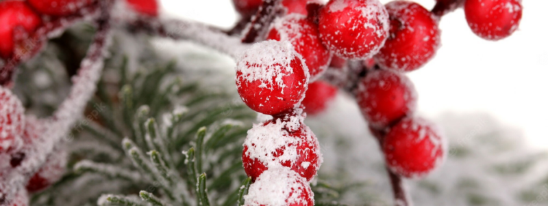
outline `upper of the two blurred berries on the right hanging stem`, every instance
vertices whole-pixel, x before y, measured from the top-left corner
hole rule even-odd
[[[403,74],[375,70],[358,83],[357,100],[365,119],[380,129],[414,112],[416,91]]]

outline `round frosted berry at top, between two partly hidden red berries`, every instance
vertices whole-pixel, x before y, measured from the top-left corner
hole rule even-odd
[[[346,59],[373,57],[388,37],[388,12],[378,0],[331,0],[319,18],[323,44]]]

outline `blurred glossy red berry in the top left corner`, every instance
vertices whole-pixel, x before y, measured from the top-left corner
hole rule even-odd
[[[24,1],[0,1],[0,57],[10,59],[15,51],[17,29],[32,33],[42,19]]]

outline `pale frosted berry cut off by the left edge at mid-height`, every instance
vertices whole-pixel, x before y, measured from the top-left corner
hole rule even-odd
[[[0,87],[0,153],[14,151],[23,145],[25,108],[8,89]]]

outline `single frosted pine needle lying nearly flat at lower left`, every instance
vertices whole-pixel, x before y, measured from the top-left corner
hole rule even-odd
[[[127,171],[119,166],[100,164],[89,160],[82,160],[75,164],[76,173],[98,173],[107,177],[126,179],[132,182],[140,182],[140,175],[133,171]]]

